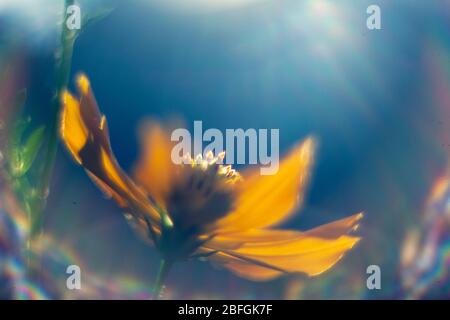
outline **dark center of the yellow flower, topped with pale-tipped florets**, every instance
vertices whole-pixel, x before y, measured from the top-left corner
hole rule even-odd
[[[157,246],[169,261],[191,256],[205,240],[214,222],[233,209],[234,184],[241,180],[231,166],[220,162],[225,153],[209,152],[176,168],[175,181],[166,198],[165,212],[170,224],[164,225]]]

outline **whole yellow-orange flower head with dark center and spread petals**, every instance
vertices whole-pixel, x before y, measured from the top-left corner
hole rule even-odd
[[[313,139],[293,148],[275,175],[248,170],[241,176],[217,163],[223,154],[173,164],[167,131],[152,124],[144,131],[143,152],[131,179],[115,160],[105,116],[87,77],[79,76],[77,86],[79,98],[69,92],[62,97],[64,144],[166,261],[208,259],[252,280],[292,272],[314,276],[359,241],[350,233],[362,214],[305,232],[272,228],[291,217],[303,200]]]

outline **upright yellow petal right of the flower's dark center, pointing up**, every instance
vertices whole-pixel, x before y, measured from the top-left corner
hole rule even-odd
[[[306,139],[283,159],[279,171],[243,174],[235,209],[217,222],[218,232],[244,231],[279,224],[295,213],[304,197],[313,162],[314,140]]]

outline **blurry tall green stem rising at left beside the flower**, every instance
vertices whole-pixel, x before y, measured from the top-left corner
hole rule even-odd
[[[74,0],[66,0],[64,5],[64,17],[66,17],[67,8],[75,3]],[[61,48],[56,58],[56,94],[52,100],[53,118],[49,126],[49,140],[44,155],[42,178],[38,185],[38,199],[30,237],[34,238],[42,230],[43,211],[47,202],[49,193],[49,184],[53,172],[53,166],[58,149],[58,120],[60,111],[60,98],[63,90],[67,87],[72,64],[73,45],[77,36],[77,30],[69,30],[63,20],[61,32]]]

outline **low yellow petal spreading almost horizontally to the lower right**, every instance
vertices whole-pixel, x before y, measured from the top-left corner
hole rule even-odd
[[[216,237],[211,257],[239,276],[256,281],[269,280],[283,273],[318,275],[331,268],[358,241],[349,236],[362,214],[356,214],[306,232],[289,230],[249,230],[233,237]]]

